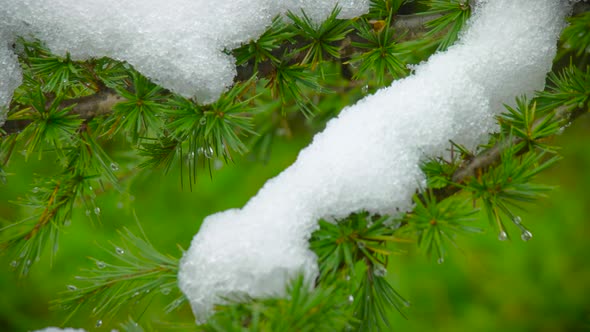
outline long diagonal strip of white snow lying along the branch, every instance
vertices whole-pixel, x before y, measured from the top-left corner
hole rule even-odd
[[[284,295],[313,283],[308,249],[320,218],[410,210],[419,164],[497,129],[503,104],[542,89],[569,6],[565,0],[479,1],[459,42],[415,73],[342,110],[241,209],[207,217],[184,254],[179,285],[197,321],[233,294]]]

